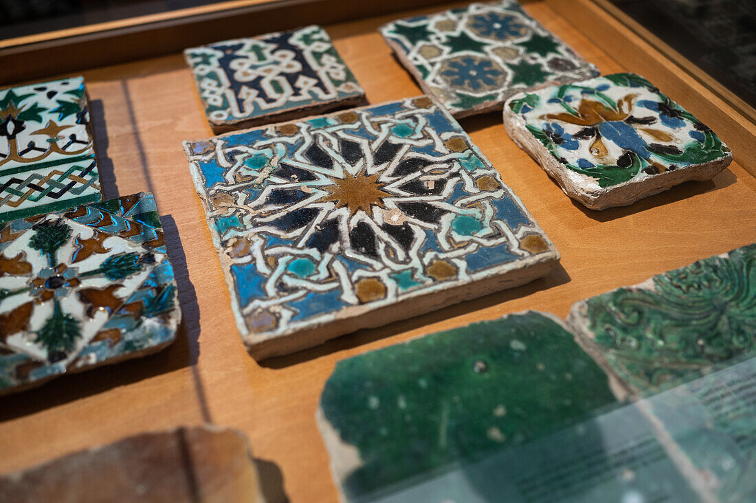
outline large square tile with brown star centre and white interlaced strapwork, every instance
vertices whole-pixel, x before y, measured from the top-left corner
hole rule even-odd
[[[522,284],[559,259],[427,97],[184,150],[237,326],[259,358]]]

